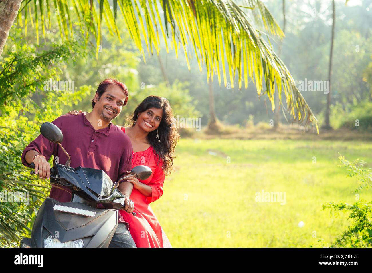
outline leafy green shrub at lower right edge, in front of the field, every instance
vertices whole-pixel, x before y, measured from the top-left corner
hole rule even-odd
[[[363,169],[366,164],[363,160],[356,159],[353,162],[346,160],[343,156],[339,156],[342,165],[346,167],[347,177],[355,176],[361,184],[355,190],[368,189],[372,183],[371,168]],[[357,195],[359,199],[359,195]],[[339,214],[340,211],[349,212],[348,219],[352,220],[352,224],[347,227],[341,235],[336,238],[336,241],[331,244],[331,247],[371,247],[372,246],[372,201],[367,202],[360,200],[352,205],[341,202],[327,202],[323,205],[323,209],[330,209],[330,212]]]

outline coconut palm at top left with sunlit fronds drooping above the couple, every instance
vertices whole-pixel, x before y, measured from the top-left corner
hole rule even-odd
[[[232,0],[1,0],[1,8],[7,16],[0,16],[0,53],[9,35],[17,14],[19,26],[25,33],[29,22],[35,26],[36,37],[39,31],[45,37],[46,29],[51,28],[51,18],[57,19],[62,39],[73,39],[74,23],[84,27],[84,39],[94,38],[98,52],[102,43],[102,26],[110,34],[120,37],[116,17],[122,16],[135,45],[144,56],[148,52],[158,54],[160,36],[166,50],[174,49],[176,55],[182,49],[189,65],[189,52],[193,52],[199,64],[207,69],[207,77],[213,80],[217,74],[225,87],[228,76],[231,88],[235,75],[238,87],[242,82],[247,88],[248,77],[256,85],[258,95],[266,93],[272,110],[275,109],[274,93],[278,89],[279,103],[281,93],[286,97],[286,110],[300,123],[315,124],[317,119],[302,94],[296,88],[288,68],[266,42],[266,33],[257,30],[253,22],[259,22],[269,35],[283,37],[283,32],[260,0],[247,0],[248,6],[240,7]],[[248,16],[243,9],[251,11]],[[10,16],[9,16],[10,15]],[[22,17],[23,16],[23,17]],[[120,26],[122,27],[122,26]],[[142,45],[142,41],[145,45]],[[190,53],[191,55],[191,53]],[[144,59],[145,61],[145,59]],[[236,74],[237,73],[237,74]],[[222,74],[222,77],[221,77]],[[227,76],[228,75],[228,76]],[[263,85],[264,80],[264,85]]]

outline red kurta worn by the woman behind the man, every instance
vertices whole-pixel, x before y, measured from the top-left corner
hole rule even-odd
[[[122,130],[125,132],[124,127],[122,127]],[[137,215],[133,216],[126,211],[120,211],[124,220],[129,223],[129,232],[137,247],[164,247],[164,244],[169,244],[167,237],[164,236],[163,238],[164,233],[149,205],[163,195],[165,179],[165,173],[161,169],[163,162],[160,161],[160,166],[157,166],[154,152],[153,147],[150,146],[145,151],[132,153],[132,168],[138,165],[146,165],[152,170],[148,179],[140,180],[141,183],[151,186],[151,196],[147,197],[141,194],[138,189],[133,188],[130,198],[134,202],[134,212]]]

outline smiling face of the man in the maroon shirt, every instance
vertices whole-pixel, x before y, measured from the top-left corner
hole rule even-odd
[[[94,96],[94,110],[106,121],[113,120],[120,114],[125,101],[124,91],[115,84],[110,84],[102,96],[98,99],[98,94]]]

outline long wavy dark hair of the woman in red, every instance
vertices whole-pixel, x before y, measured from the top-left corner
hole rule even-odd
[[[163,109],[163,117],[161,118],[158,132],[159,139],[156,137],[156,130],[151,131],[147,135],[147,140],[155,150],[155,156],[158,159],[157,165],[160,163],[160,159],[163,160],[163,170],[166,175],[170,175],[173,165],[174,148],[176,147],[177,141],[180,139],[177,127],[173,126],[175,118],[173,117],[173,111],[166,98],[158,96],[148,96],[140,104],[138,104],[136,110],[134,110],[133,117],[130,119],[132,127],[135,125],[134,121],[140,113],[148,110],[149,108]]]

